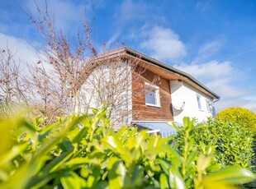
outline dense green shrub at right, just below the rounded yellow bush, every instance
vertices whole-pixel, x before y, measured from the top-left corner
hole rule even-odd
[[[205,145],[213,145],[216,161],[222,167],[253,167],[254,137],[252,132],[239,124],[209,119],[206,127],[192,131],[192,139],[201,152],[204,151]]]

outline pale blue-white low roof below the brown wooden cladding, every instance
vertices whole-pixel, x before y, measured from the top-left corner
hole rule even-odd
[[[181,126],[180,124],[176,123],[177,126]],[[149,130],[159,130],[162,137],[168,137],[171,135],[176,135],[177,131],[174,127],[172,127],[168,122],[135,122],[135,125],[148,128]]]

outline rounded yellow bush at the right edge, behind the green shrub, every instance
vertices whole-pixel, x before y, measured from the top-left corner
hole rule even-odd
[[[226,108],[216,115],[217,120],[237,123],[249,131],[256,132],[256,114],[246,108]]]

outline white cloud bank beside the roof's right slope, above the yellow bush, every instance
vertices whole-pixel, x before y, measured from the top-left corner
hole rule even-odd
[[[238,80],[243,80],[244,72],[235,69],[231,62],[211,61],[201,64],[182,64],[174,67],[196,77],[220,95],[220,101],[216,103],[218,111],[239,106],[256,112],[256,94],[246,87],[235,86]]]

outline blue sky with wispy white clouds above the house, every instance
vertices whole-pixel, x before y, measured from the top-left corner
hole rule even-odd
[[[256,113],[256,1],[50,0],[48,9],[70,39],[87,19],[97,48],[126,44],[201,81],[220,96],[217,111]],[[36,62],[41,39],[26,12],[36,13],[33,0],[0,0],[0,48]]]

